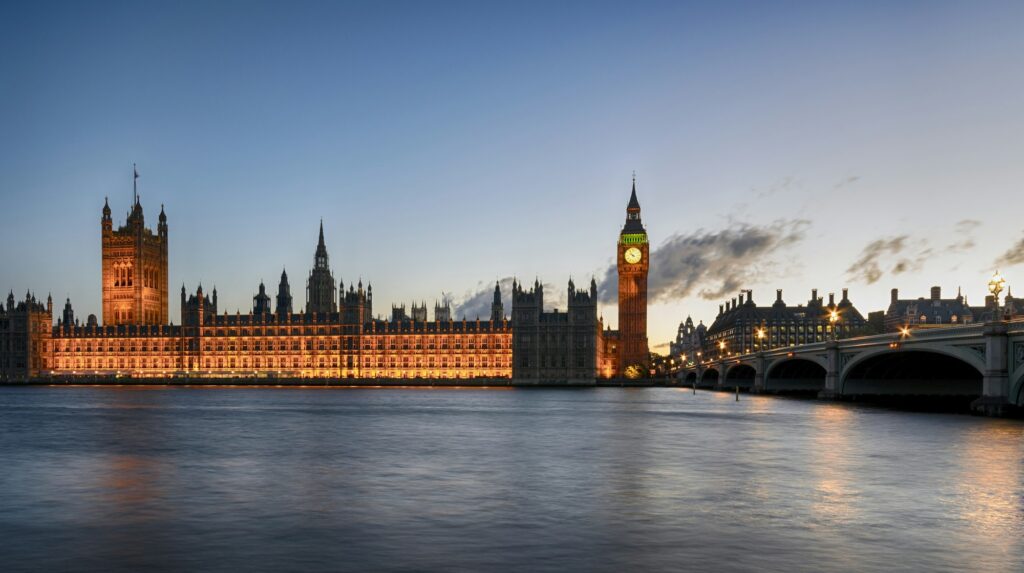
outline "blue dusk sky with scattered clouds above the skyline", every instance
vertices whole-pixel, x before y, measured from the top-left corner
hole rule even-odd
[[[374,312],[597,278],[633,173],[648,337],[752,290],[866,314],[1024,282],[1024,3],[9,2],[0,288],[101,314],[99,218],[170,228],[181,284],[304,304],[319,221]],[[1024,284],[1019,286],[1024,295]],[[561,295],[561,300],[557,295]],[[177,321],[177,320],[175,320]]]

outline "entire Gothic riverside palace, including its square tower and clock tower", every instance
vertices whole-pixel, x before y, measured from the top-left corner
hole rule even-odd
[[[495,285],[487,320],[453,319],[449,302],[393,306],[390,320],[374,318],[373,286],[335,281],[324,226],[306,280],[306,302],[295,312],[288,273],[271,300],[262,282],[252,309],[221,312],[217,291],[182,284],[180,322],[168,320],[167,216],[157,232],[145,227],[136,194],[125,224],[114,228],[104,202],[102,322],[75,318],[69,300],[52,323],[31,294],[0,305],[0,379],[268,378],[268,379],[510,379],[537,383],[593,382],[647,361],[646,232],[636,184],[618,241],[618,332],[598,318],[597,283],[569,280],[567,309],[546,310],[540,281],[513,285],[512,316]],[[638,239],[638,237],[641,237]],[[634,251],[641,253],[635,257]],[[625,286],[624,286],[625,284]],[[625,310],[625,314],[623,309]]]

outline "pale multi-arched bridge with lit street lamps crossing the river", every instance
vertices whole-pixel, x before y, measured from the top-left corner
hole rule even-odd
[[[1024,319],[915,328],[688,362],[685,386],[825,399],[972,399],[973,411],[1024,408]]]

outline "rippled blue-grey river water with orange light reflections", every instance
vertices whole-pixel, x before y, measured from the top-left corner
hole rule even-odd
[[[0,388],[3,571],[1024,571],[1024,424],[677,389]]]

